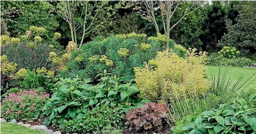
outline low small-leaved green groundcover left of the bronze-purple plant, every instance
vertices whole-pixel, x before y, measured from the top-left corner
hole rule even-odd
[[[106,131],[122,129],[124,119],[125,112],[121,105],[109,107],[104,104],[96,106],[82,117],[64,120],[60,128],[65,132],[93,132],[95,134],[104,130],[106,134]]]

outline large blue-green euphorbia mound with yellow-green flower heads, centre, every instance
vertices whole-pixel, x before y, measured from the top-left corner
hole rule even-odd
[[[133,34],[134,36],[128,37],[124,34],[125,38],[118,35],[94,38],[84,44],[80,51],[71,54],[69,71],[87,78],[95,78],[106,69],[117,77],[127,80],[132,78],[133,67],[143,66],[143,62],[155,58],[157,51],[163,50],[160,41],[147,41],[145,35]]]

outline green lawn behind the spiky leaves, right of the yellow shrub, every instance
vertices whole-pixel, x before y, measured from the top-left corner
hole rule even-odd
[[[256,68],[250,68],[250,67],[233,67],[233,66],[207,66],[207,67],[208,67],[208,70],[206,73],[208,78],[210,78],[210,75],[214,75],[214,74],[215,74],[215,78],[218,77],[219,67],[222,72],[222,75],[224,74],[227,68],[228,70],[227,77],[229,78],[231,76],[231,79],[232,79],[231,85],[234,85],[238,81],[239,77],[241,77],[241,75],[245,75],[242,81],[246,81],[256,73]],[[249,90],[249,89],[256,90],[256,79],[254,78],[256,78],[256,74],[250,79],[250,82],[252,81],[252,83],[246,87],[246,90]]]

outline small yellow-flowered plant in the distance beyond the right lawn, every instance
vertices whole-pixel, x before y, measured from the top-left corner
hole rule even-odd
[[[218,54],[220,57],[225,57],[225,58],[237,58],[240,54],[240,51],[237,51],[236,47],[229,47],[229,46],[224,46]]]

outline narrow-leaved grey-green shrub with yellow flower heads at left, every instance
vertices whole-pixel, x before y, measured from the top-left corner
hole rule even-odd
[[[32,29],[31,29],[32,28]],[[31,30],[34,30],[31,27]],[[26,35],[21,35],[20,38],[11,38],[11,41],[1,46],[1,53],[8,56],[8,61],[16,63],[17,68],[29,68],[35,70],[38,67],[54,68],[47,61],[50,52],[57,52],[49,45],[41,43],[42,38],[34,34],[43,32],[43,28],[36,28],[36,31],[27,31]],[[20,42],[21,40],[21,42]]]

